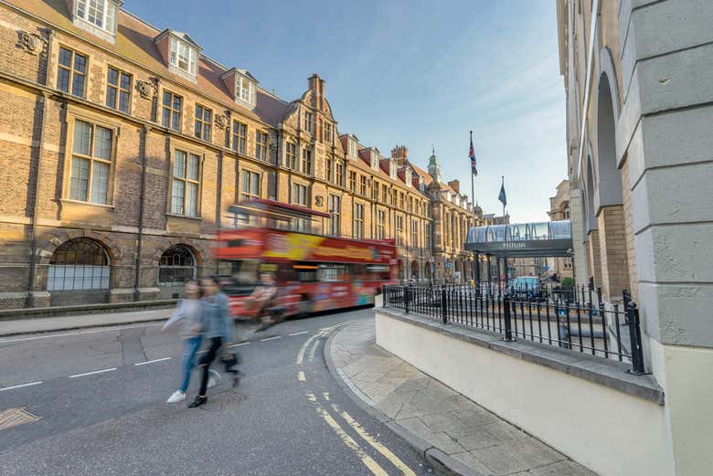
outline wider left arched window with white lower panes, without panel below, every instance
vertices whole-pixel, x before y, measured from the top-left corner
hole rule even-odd
[[[49,260],[47,290],[105,290],[109,273],[109,255],[98,241],[70,239]]]

